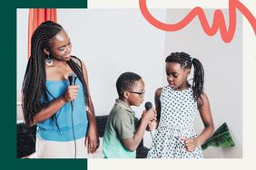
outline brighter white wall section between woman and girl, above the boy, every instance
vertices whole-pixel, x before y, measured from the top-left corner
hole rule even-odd
[[[164,10],[155,14],[165,19]],[[71,37],[73,54],[87,66],[97,115],[109,114],[117,98],[115,81],[124,71],[143,77],[145,100],[153,101],[162,82],[164,33],[147,24],[139,10],[59,9],[58,22]]]

